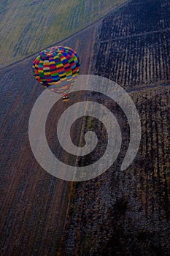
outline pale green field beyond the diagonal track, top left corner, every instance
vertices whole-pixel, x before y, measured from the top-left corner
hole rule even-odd
[[[125,1],[1,0],[0,67],[69,37]]]

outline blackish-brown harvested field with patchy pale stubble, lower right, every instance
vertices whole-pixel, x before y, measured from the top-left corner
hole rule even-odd
[[[125,144],[107,173],[74,185],[63,255],[169,255],[169,93],[169,86],[131,92],[142,122],[139,152],[121,172]]]

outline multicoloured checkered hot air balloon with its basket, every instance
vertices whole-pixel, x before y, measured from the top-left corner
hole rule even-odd
[[[56,46],[42,50],[32,68],[42,86],[61,94],[63,101],[69,100],[68,93],[80,72],[80,60],[72,48]]]

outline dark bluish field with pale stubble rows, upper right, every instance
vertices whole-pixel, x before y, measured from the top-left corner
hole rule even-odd
[[[131,1],[124,12],[105,18],[96,41],[95,74],[124,89],[170,83],[169,11],[166,1]]]

